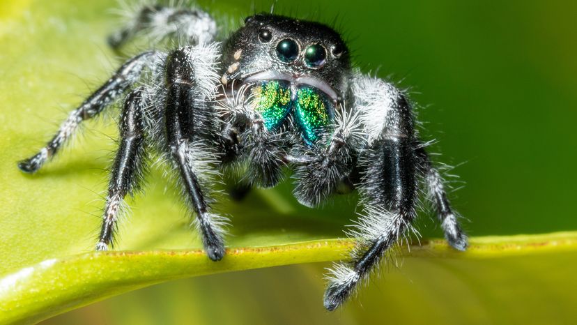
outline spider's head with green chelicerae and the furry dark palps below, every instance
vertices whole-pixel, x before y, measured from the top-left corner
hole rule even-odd
[[[310,167],[322,160],[316,150],[327,149],[337,116],[346,115],[341,109],[351,67],[339,34],[315,22],[255,15],[226,40],[222,64],[226,100],[220,112],[238,143],[238,156],[250,162],[247,179],[275,186],[291,162],[313,172]],[[352,167],[348,161],[349,172]],[[320,181],[315,181],[318,190],[298,185],[300,202],[316,205],[340,180]],[[310,195],[311,190],[317,193]]]

